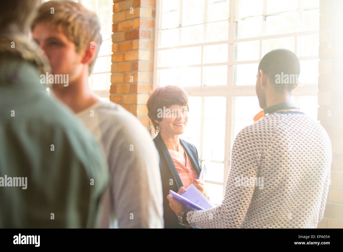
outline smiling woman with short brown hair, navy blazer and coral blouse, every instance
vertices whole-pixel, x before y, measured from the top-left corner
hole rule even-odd
[[[198,180],[201,171],[197,148],[179,135],[185,132],[188,122],[188,95],[179,86],[157,87],[147,103],[151,125],[158,132],[154,143],[159,153],[165,228],[185,228],[169,207],[169,190],[178,192],[181,187],[194,185],[207,195],[204,184]]]

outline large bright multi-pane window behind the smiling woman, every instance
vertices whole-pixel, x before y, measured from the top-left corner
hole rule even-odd
[[[293,100],[317,120],[319,0],[157,0],[154,87],[190,95],[182,139],[204,161],[206,187],[221,203],[237,133],[261,108],[255,83],[265,53],[286,48],[300,60]]]

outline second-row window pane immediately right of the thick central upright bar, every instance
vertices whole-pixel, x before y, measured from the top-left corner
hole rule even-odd
[[[252,38],[259,36],[262,36],[262,17],[235,22],[235,38]]]

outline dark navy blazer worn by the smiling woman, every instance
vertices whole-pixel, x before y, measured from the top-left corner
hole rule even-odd
[[[159,132],[154,138],[154,143],[159,154],[159,169],[161,171],[162,179],[164,228],[185,228],[185,226],[182,226],[180,224],[180,221],[178,220],[174,211],[170,208],[169,201],[167,200],[169,190],[178,192],[179,189],[183,186],[182,181],[176,170],[173,159],[169,154],[167,146],[165,145]],[[188,143],[182,139],[180,139],[180,143],[182,146],[184,146],[185,151],[192,163],[192,166],[194,167],[199,177],[201,165],[199,165],[197,148],[193,144]]]

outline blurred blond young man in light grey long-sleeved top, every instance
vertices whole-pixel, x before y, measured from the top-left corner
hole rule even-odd
[[[100,101],[88,85],[102,43],[96,14],[79,3],[48,1],[33,21],[32,34],[52,74],[69,76],[68,85],[53,84],[52,92],[83,120],[107,157],[110,184],[100,227],[162,228],[159,158],[149,132],[121,106]]]

